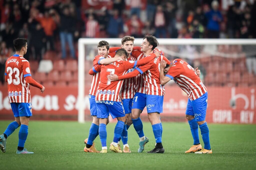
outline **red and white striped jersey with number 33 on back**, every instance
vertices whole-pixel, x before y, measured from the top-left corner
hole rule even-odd
[[[5,75],[7,78],[8,97],[10,103],[30,103],[29,83],[27,76],[31,76],[28,60],[17,54],[8,58],[5,63]]]

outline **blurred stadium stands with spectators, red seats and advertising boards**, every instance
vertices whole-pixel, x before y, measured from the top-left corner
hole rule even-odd
[[[169,60],[182,58],[201,70],[201,80],[209,93],[207,122],[256,123],[254,0],[2,0],[0,9],[1,120],[13,119],[4,68],[6,59],[15,53],[15,38],[28,39],[25,58],[30,62],[32,77],[46,87],[44,94],[31,87],[32,119],[77,120],[78,39],[131,35],[141,40],[143,35],[153,34],[157,38],[183,38],[184,45],[160,43],[159,49]],[[185,43],[202,40],[198,38],[219,42],[232,38],[231,42],[236,43]],[[241,38],[251,43],[239,44]],[[116,41],[110,45],[120,46],[121,39]],[[91,120],[88,71],[97,55],[97,45],[84,45],[84,50],[85,120]],[[186,103],[186,94],[174,82],[167,84],[162,120],[185,121]],[[142,115],[147,121],[147,115]]]

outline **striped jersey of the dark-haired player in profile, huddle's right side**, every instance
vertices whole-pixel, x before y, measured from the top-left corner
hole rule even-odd
[[[146,91],[145,94],[159,96],[165,94],[164,85],[161,85],[160,83],[160,61],[162,60],[165,60],[167,64],[170,64],[170,61],[165,56],[161,55],[160,57],[151,60],[149,63],[137,68],[143,77]]]

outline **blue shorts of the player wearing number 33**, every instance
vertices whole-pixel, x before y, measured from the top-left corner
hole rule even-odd
[[[32,116],[31,103],[11,103],[14,117]]]

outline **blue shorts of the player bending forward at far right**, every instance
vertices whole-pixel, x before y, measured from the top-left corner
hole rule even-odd
[[[204,121],[207,109],[207,98],[208,93],[206,92],[196,100],[188,99],[186,114],[195,116],[197,122]]]

